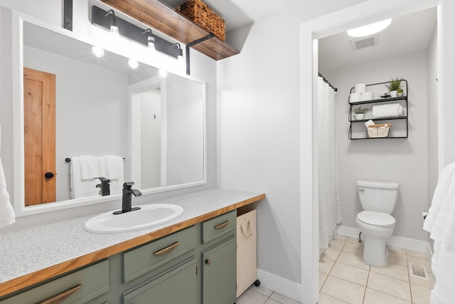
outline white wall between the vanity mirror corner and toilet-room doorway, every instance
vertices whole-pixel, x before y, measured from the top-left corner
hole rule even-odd
[[[218,63],[219,184],[267,195],[257,216],[259,279],[297,299],[299,24],[359,2],[302,1],[229,33],[237,41],[248,36],[239,55]]]

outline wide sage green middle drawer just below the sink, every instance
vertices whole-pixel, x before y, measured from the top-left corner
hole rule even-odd
[[[154,270],[195,247],[196,227],[191,226],[123,253],[124,283]]]

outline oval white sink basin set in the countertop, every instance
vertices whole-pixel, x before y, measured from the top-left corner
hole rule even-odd
[[[183,208],[173,204],[140,205],[141,209],[124,214],[109,211],[85,222],[85,230],[95,234],[113,234],[150,228],[175,219]]]

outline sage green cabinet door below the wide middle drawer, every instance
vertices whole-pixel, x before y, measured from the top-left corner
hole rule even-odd
[[[196,304],[196,258],[137,285],[123,294],[124,304]]]

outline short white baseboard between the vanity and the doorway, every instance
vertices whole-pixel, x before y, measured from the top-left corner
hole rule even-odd
[[[261,269],[257,269],[257,279],[261,282],[261,286],[300,301],[301,287],[299,283],[289,281],[287,278],[276,276]]]

